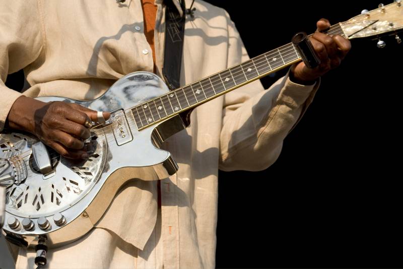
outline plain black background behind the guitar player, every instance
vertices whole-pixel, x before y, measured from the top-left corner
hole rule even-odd
[[[322,17],[337,23],[379,4],[209,2],[229,12],[251,57],[290,42],[298,31],[313,32]],[[220,172],[217,267],[402,266],[403,44],[383,40],[383,49],[376,41],[353,41],[342,66],[322,77],[272,167]],[[21,73],[8,77],[13,88],[22,83]]]

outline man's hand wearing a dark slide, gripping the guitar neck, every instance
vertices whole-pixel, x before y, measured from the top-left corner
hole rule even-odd
[[[307,68],[303,62],[293,65],[291,67],[291,76],[294,82],[312,84],[320,76],[340,66],[342,60],[351,49],[350,41],[341,35],[328,36],[320,33],[320,31],[330,27],[328,20],[320,19],[316,26],[317,30],[309,40],[321,63],[313,69]]]

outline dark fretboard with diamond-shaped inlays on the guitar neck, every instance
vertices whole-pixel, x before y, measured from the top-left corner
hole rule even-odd
[[[326,33],[344,35],[339,24],[331,26]],[[293,43],[288,43],[132,107],[131,111],[138,129],[142,130],[299,61],[299,52]]]

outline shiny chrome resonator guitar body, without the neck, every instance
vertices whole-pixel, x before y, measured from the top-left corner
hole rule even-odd
[[[7,238],[22,246],[36,245],[41,235],[47,236],[50,246],[72,242],[94,227],[127,180],[159,180],[175,174],[178,167],[171,154],[159,146],[184,129],[180,117],[139,131],[129,110],[168,91],[158,76],[135,72],[92,101],[39,97],[109,111],[111,118],[105,128],[92,129],[86,142],[94,145],[94,152],[86,160],[61,157],[27,133],[0,134]]]

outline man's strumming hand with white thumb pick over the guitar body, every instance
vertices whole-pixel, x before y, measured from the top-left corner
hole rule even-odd
[[[104,112],[105,119],[110,117]],[[45,103],[26,96],[19,97],[11,107],[10,128],[24,130],[37,136],[64,157],[88,157],[83,140],[90,137],[91,122],[97,112],[75,103]]]

